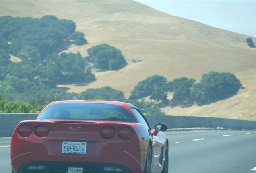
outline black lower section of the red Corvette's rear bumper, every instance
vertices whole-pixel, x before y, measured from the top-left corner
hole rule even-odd
[[[83,162],[30,162],[18,173],[132,173],[124,165]]]

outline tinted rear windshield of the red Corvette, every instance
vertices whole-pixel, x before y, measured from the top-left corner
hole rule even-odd
[[[63,103],[45,109],[38,120],[76,119],[135,122],[132,115],[123,107],[95,103]]]

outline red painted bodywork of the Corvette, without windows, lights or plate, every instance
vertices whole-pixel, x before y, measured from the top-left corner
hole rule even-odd
[[[73,119],[39,120],[38,118],[37,120],[21,121],[14,130],[11,140],[11,164],[14,173],[21,171],[24,164],[37,162],[71,163],[71,165],[72,163],[113,163],[128,168],[132,173],[142,173],[149,146],[152,148],[152,155],[154,156],[152,157],[152,171],[161,172],[163,163],[159,163],[159,155],[163,152],[161,150],[165,148],[167,137],[161,131],[157,135],[151,135],[152,131],[149,131],[148,127],[138,123],[138,119],[130,110],[134,105],[115,101],[58,101],[50,103],[43,111],[52,105],[65,103],[118,105],[125,108],[136,122]],[[22,137],[19,134],[19,127],[22,125],[31,127],[31,135]],[[48,127],[49,133],[45,137],[38,137],[35,133],[35,129],[39,125]],[[77,128],[77,130],[73,131],[68,127]],[[115,131],[114,137],[105,139],[101,135],[103,127],[112,127]],[[118,131],[123,127],[132,130],[132,137],[128,140],[121,139],[118,135]],[[86,153],[63,154],[63,141],[85,142]]]

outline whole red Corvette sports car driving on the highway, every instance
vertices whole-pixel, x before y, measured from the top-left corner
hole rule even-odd
[[[12,134],[12,173],[167,173],[168,139],[132,104],[57,101]]]

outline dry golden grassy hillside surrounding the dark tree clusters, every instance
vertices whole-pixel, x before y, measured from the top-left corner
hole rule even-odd
[[[101,43],[122,51],[125,68],[94,72],[96,82],[65,85],[69,91],[110,86],[128,97],[139,81],[154,74],[171,81],[182,76],[200,80],[210,71],[231,72],[245,87],[236,96],[203,107],[167,107],[165,113],[256,120],[256,49],[246,44],[248,36],[170,16],[132,0],[0,0],[0,16],[4,15],[73,20],[88,44],[65,52],[87,56],[88,48]]]

